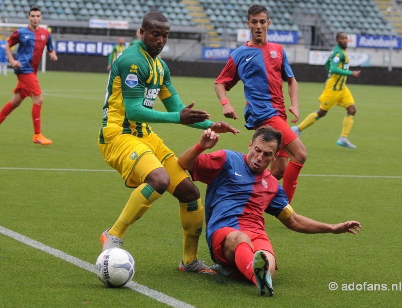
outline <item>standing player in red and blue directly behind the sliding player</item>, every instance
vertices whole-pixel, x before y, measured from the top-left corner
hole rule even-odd
[[[215,90],[223,105],[226,118],[238,119],[226,97],[239,80],[244,83],[246,107],[244,118],[246,128],[256,129],[270,125],[282,132],[282,148],[278,159],[271,164],[271,172],[277,178],[283,177],[283,188],[291,201],[296,189],[297,177],[307,159],[306,148],[292,132],[286,122],[286,108],[283,101],[282,79],[289,84],[291,107],[298,121],[297,82],[281,45],[267,42],[270,25],[265,7],[252,5],[248,10],[247,26],[251,40],[236,49],[215,81]],[[287,164],[288,157],[290,162]]]

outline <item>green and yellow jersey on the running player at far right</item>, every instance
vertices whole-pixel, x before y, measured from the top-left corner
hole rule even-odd
[[[325,63],[325,67],[328,71],[325,87],[332,90],[342,90],[345,87],[346,76],[352,74],[349,70],[349,59],[346,50],[336,45]]]

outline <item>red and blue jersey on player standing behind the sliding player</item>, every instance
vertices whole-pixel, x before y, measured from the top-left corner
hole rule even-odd
[[[282,80],[290,77],[294,75],[281,45],[245,43],[231,53],[215,83],[223,84],[229,91],[239,80],[243,81],[247,100],[245,127],[251,130],[273,116],[286,118]]]

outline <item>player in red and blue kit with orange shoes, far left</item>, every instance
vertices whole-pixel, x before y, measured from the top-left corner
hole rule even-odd
[[[11,66],[17,74],[18,84],[13,90],[14,95],[0,112],[0,124],[27,96],[31,96],[32,121],[34,123],[34,143],[47,145],[52,141],[41,134],[41,108],[43,96],[39,81],[36,77],[45,46],[49,51],[50,60],[57,61],[57,55],[53,49],[50,32],[39,27],[42,14],[38,7],[32,7],[28,13],[29,25],[14,31],[6,45],[6,54]],[[19,44],[17,57],[14,59],[11,48]]]

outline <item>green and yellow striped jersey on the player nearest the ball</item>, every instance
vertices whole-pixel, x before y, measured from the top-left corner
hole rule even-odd
[[[184,108],[171,84],[170,71],[160,58],[152,58],[139,40],[117,57],[109,73],[99,143],[109,143],[120,134],[144,137],[152,123],[180,123]],[[156,97],[168,112],[152,111]],[[169,106],[172,106],[169,109]]]

